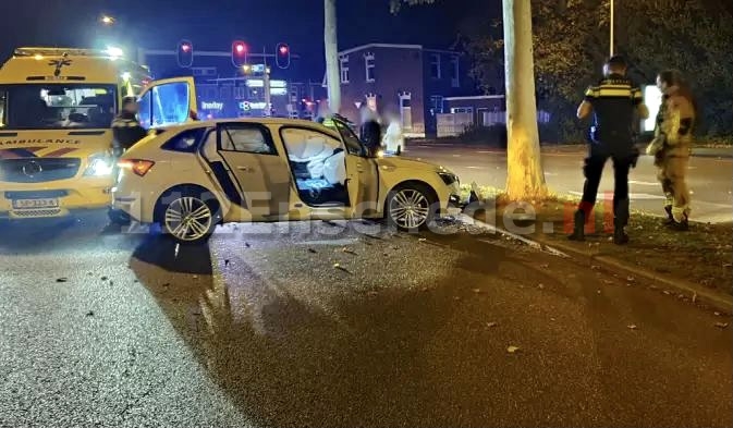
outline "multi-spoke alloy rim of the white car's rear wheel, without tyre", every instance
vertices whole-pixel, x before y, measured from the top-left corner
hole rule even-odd
[[[168,205],[163,222],[168,233],[176,240],[195,242],[210,233],[213,215],[211,208],[201,199],[183,196]]]

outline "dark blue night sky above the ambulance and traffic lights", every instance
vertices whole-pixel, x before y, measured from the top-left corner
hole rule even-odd
[[[339,0],[339,49],[367,42],[447,48],[467,21],[488,22],[490,14],[500,14],[500,1],[492,2],[493,11],[487,3],[438,0],[392,15],[388,0]],[[118,20],[115,30],[125,39],[121,45],[173,49],[188,38],[195,49],[229,50],[241,38],[260,50],[285,41],[314,77],[323,73],[322,0],[0,0],[0,58],[4,61],[17,46],[99,45],[110,37],[98,24],[101,13]]]

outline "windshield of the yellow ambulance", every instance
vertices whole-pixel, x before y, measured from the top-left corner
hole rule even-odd
[[[0,85],[0,129],[107,129],[115,98],[113,85]]]

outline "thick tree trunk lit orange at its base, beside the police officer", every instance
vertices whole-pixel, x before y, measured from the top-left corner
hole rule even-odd
[[[547,197],[539,150],[530,0],[503,0],[506,81],[506,196]]]

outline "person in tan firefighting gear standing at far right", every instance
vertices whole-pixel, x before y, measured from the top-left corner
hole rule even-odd
[[[676,70],[659,73],[657,86],[662,91],[662,103],[647,155],[655,157],[657,178],[667,197],[667,225],[674,230],[687,230],[691,209],[685,176],[693,143],[695,100],[682,73]]]

